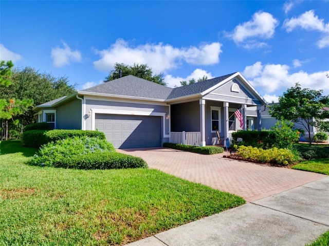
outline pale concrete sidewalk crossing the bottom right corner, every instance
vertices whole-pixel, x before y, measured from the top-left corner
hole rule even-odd
[[[305,245],[329,230],[329,177],[247,203],[131,246]]]

